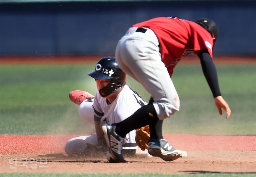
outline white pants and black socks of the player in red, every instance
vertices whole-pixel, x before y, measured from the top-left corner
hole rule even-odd
[[[132,129],[151,124],[150,133],[152,133],[152,136],[157,137],[155,128],[158,120],[153,119],[154,121],[152,121],[152,118],[155,118],[154,114],[152,114],[151,119],[147,116],[143,119],[141,115],[155,112],[158,119],[162,120],[179,110],[180,101],[167,68],[161,61],[158,41],[154,32],[148,29],[144,34],[136,32],[136,28],[130,28],[126,36],[118,43],[116,58],[120,68],[140,82],[155,100],[153,102],[154,111],[151,104],[143,106],[123,121],[125,124],[118,123],[116,132],[119,135],[125,135]],[[158,126],[162,127],[162,122]],[[156,142],[152,141],[151,145],[148,149],[149,153],[150,149],[157,149],[157,152],[155,151],[152,155],[160,157],[161,151],[158,138]]]

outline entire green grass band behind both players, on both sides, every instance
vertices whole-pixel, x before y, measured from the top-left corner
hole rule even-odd
[[[220,89],[232,109],[230,119],[219,115],[210,89],[197,65],[178,65],[172,80],[180,96],[180,111],[164,120],[163,133],[256,134],[256,65],[217,65]],[[0,66],[0,134],[87,134],[94,125],[83,122],[68,94],[96,92],[86,76],[94,64]],[[128,85],[148,100],[149,94],[132,78]]]

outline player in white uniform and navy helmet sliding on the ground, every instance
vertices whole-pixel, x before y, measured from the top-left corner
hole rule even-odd
[[[103,137],[102,124],[123,121],[134,111],[147,104],[136,91],[126,85],[126,74],[122,72],[113,57],[100,59],[95,70],[88,75],[96,80],[97,92],[95,97],[81,90],[72,91],[69,97],[71,101],[79,105],[80,117],[87,122],[94,122],[96,134],[68,140],[65,151],[69,155],[103,155],[108,147]],[[127,156],[136,154],[135,137],[135,130],[128,132],[124,137],[122,151]],[[140,140],[142,138],[140,136]],[[145,138],[147,144],[148,139]],[[139,153],[141,154],[142,151]],[[147,151],[144,154],[148,154]]]

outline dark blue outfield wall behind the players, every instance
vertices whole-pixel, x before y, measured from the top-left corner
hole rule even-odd
[[[137,22],[158,16],[212,18],[216,55],[256,55],[256,1],[137,1],[0,4],[0,56],[114,54]]]

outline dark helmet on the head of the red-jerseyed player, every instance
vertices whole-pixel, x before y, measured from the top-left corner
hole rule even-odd
[[[213,20],[209,18],[200,18],[199,20],[196,20],[196,23],[206,29],[210,34],[213,34],[215,39],[218,38],[219,28]]]

